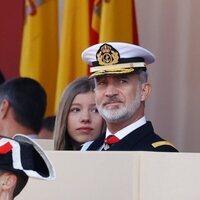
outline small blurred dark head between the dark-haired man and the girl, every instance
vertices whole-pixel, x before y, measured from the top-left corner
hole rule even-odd
[[[47,116],[42,121],[41,129],[38,133],[38,139],[53,139],[53,131],[56,116]]]

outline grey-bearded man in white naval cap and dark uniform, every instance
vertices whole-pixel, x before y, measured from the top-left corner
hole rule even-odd
[[[82,59],[91,66],[97,109],[107,125],[106,133],[87,150],[177,152],[145,118],[145,101],[151,92],[146,67],[155,60],[150,51],[109,42],[87,48]]]

